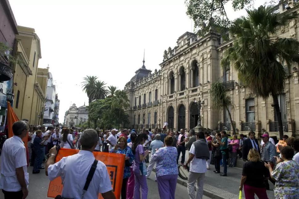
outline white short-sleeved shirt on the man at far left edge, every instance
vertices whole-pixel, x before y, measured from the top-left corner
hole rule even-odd
[[[2,147],[0,189],[13,192],[22,189],[15,171],[16,168],[20,167],[23,167],[25,182],[28,186],[26,148],[23,140],[14,135],[7,139]]]

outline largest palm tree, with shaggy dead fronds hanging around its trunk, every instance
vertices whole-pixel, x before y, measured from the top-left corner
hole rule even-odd
[[[221,61],[222,67],[234,63],[239,79],[257,96],[272,96],[280,139],[283,127],[277,94],[283,92],[286,77],[282,63],[289,70],[299,62],[299,42],[276,33],[296,18],[292,12],[276,13],[272,6],[247,10],[247,17],[235,20],[230,30],[235,41]]]

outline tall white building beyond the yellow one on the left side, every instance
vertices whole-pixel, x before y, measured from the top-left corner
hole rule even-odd
[[[47,67],[49,69],[49,67]],[[53,84],[52,74],[49,73],[50,78],[47,81],[47,91],[46,91],[46,106],[43,114],[43,123],[50,123],[54,125],[54,109],[55,109],[55,99],[56,99],[56,87]]]

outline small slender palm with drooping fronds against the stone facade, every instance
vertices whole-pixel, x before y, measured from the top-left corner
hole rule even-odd
[[[213,108],[227,110],[229,119],[231,121],[232,134],[236,135],[236,129],[232,121],[230,111],[230,108],[234,109],[234,106],[232,104],[231,97],[226,94],[224,85],[221,82],[216,81],[214,84],[212,84],[210,93]]]

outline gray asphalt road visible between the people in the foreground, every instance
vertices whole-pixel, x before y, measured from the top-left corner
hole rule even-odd
[[[29,172],[29,195],[27,199],[45,199],[49,198],[47,197],[47,191],[49,187],[49,179],[45,175],[44,170],[41,170],[39,174],[32,174],[32,167],[28,167]],[[158,186],[157,182],[154,180],[155,173],[152,172],[149,179],[147,180],[148,188],[149,188],[149,194],[148,199],[158,199],[159,193],[158,193]],[[4,198],[4,195],[2,191],[0,192],[0,198]],[[177,184],[176,190],[175,190],[175,198],[189,198],[187,188]],[[209,197],[203,197],[203,199],[210,199]]]

